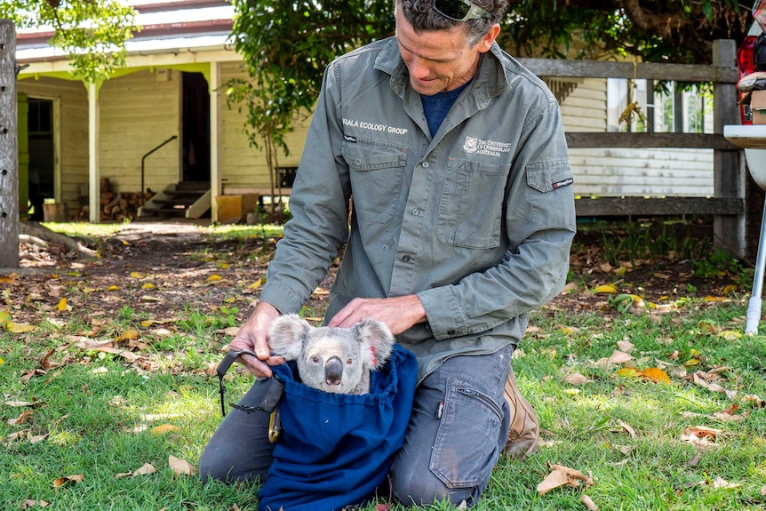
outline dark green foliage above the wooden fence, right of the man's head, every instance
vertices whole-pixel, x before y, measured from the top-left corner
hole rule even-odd
[[[737,0],[523,0],[512,3],[500,44],[550,58],[572,49],[587,59],[632,55],[649,62],[709,64],[712,42],[740,41],[753,21],[749,14]]]

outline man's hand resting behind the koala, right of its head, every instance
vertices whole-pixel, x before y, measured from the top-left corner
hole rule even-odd
[[[394,335],[408,330],[414,324],[427,321],[426,309],[418,295],[410,294],[395,298],[352,299],[327,325],[349,327],[363,319],[385,323]]]

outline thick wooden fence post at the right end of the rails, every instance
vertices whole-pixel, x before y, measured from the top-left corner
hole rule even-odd
[[[713,65],[734,67],[737,47],[730,39],[713,43]],[[713,126],[715,133],[723,133],[726,124],[739,124],[738,94],[735,84],[713,84]],[[713,187],[716,197],[737,198],[744,203],[747,172],[742,151],[714,149]],[[746,210],[747,208],[745,208]],[[714,215],[714,245],[731,255],[746,257],[746,212],[738,215]]]

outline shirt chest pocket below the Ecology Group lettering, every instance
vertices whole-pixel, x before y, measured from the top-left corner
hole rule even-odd
[[[342,154],[351,171],[357,218],[368,223],[392,220],[402,192],[407,148],[379,140],[355,139],[343,143]]]

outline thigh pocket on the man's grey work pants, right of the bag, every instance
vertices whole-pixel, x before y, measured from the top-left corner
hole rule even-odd
[[[467,488],[486,480],[495,466],[502,396],[492,397],[469,379],[448,380],[430,469],[448,488]]]

